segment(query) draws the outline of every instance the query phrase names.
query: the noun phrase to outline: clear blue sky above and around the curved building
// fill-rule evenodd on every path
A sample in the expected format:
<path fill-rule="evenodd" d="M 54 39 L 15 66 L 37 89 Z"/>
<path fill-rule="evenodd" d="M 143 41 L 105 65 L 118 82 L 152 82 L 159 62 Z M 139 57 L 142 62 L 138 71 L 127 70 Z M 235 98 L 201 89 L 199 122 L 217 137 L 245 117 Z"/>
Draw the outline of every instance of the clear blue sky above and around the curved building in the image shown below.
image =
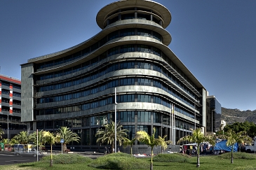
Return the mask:
<path fill-rule="evenodd" d="M 97 34 L 110 0 L 0 0 L 1 74 Z M 156 0 L 170 10 L 169 48 L 225 108 L 256 109 L 256 1 Z"/>

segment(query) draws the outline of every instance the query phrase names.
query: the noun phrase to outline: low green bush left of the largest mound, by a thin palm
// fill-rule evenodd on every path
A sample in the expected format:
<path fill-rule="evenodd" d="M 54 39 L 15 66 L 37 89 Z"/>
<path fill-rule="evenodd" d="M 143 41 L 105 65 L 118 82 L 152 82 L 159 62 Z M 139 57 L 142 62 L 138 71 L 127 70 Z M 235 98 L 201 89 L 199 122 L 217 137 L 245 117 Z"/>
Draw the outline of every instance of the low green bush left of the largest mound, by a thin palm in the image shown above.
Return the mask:
<path fill-rule="evenodd" d="M 42 157 L 41 161 L 50 162 L 50 155 Z M 90 157 L 83 157 L 78 154 L 59 154 L 53 155 L 53 164 L 77 164 L 83 162 L 91 162 Z"/>

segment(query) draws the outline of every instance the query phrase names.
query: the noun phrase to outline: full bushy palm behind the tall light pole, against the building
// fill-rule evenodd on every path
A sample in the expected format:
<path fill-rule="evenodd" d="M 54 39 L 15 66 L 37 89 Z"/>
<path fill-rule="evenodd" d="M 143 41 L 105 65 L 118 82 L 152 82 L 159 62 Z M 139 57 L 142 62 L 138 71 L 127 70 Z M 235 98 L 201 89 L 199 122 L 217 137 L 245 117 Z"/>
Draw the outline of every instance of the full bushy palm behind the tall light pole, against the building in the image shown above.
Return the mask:
<path fill-rule="evenodd" d="M 114 148 L 114 141 L 115 141 L 115 129 L 114 129 L 114 123 L 111 122 L 109 124 L 103 125 L 105 129 L 99 129 L 95 136 L 98 136 L 98 139 L 96 142 L 102 142 L 107 144 L 110 144 L 112 147 L 112 153 Z M 122 145 L 123 139 L 127 136 L 127 129 L 122 129 L 122 125 L 119 125 L 119 123 L 116 125 L 116 141 L 119 141 L 119 145 Z"/>

